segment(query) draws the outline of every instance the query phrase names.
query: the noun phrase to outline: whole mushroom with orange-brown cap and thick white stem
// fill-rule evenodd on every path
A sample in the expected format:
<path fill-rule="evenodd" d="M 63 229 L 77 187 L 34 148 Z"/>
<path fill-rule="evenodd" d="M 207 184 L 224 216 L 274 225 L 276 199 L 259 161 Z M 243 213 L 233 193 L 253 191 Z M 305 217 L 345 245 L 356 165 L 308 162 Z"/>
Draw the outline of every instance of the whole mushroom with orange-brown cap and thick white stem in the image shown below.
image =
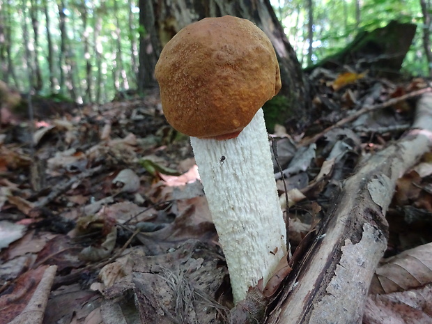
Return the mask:
<path fill-rule="evenodd" d="M 205 18 L 165 45 L 155 76 L 167 121 L 190 135 L 238 302 L 287 253 L 261 109 L 281 88 L 275 49 L 249 20 Z"/>

